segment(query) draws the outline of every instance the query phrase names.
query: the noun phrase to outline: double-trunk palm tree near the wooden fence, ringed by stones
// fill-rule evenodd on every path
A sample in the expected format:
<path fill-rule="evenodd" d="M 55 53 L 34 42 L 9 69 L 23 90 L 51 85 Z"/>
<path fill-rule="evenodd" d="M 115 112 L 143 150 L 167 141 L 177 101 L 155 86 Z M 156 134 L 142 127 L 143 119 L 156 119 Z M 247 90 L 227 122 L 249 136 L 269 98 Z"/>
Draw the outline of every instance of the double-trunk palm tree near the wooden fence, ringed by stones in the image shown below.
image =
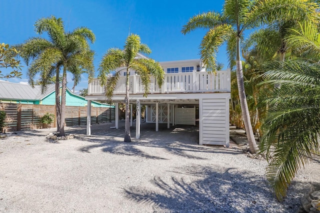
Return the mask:
<path fill-rule="evenodd" d="M 79 27 L 72 32 L 65 32 L 61 18 L 54 16 L 41 18 L 35 22 L 35 31 L 39 34 L 47 32 L 49 39 L 41 37 L 29 38 L 17 48 L 20 56 L 28 65 L 27 75 L 29 84 L 34 85 L 34 78 L 40 73 L 42 92 L 55 75 L 55 101 L 57 115 L 57 132 L 64 135 L 66 71 L 73 75 L 74 83 L 81 79 L 81 73 L 87 72 L 89 78 L 93 76 L 93 51 L 87 40 L 94 42 L 93 32 L 86 27 Z M 61 103 L 59 98 L 59 70 L 62 71 Z"/>

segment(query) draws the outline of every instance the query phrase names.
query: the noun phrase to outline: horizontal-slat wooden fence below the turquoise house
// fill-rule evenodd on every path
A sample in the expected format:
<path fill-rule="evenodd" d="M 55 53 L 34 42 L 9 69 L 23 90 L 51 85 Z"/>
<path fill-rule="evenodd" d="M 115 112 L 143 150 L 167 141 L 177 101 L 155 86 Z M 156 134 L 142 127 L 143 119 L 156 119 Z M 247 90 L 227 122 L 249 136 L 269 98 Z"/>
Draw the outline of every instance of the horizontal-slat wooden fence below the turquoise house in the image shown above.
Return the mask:
<path fill-rule="evenodd" d="M 4 127 L 6 131 L 18 131 L 42 128 L 40 119 L 46 112 L 54 114 L 54 122 L 51 127 L 56 126 L 55 105 L 34 105 L 21 103 L 0 103 L 0 110 L 6 112 Z M 66 106 L 65 124 L 85 125 L 86 106 Z M 110 122 L 115 120 L 114 108 L 91 107 L 91 123 Z"/>

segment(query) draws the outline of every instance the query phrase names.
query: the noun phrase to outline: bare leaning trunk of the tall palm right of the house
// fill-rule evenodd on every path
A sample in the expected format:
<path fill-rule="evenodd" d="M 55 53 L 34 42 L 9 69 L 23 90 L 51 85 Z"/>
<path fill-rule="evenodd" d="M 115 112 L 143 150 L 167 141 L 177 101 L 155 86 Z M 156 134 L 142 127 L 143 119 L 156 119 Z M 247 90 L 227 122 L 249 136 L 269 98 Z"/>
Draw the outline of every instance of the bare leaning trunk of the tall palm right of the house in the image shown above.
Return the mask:
<path fill-rule="evenodd" d="M 242 119 L 243 119 L 246 136 L 249 143 L 249 151 L 251 153 L 255 153 L 258 150 L 258 147 L 254 139 L 248 104 L 246 102 L 246 96 L 244 92 L 242 61 L 240 60 L 240 37 L 239 36 L 236 37 L 236 80 L 237 80 L 238 91 L 239 91 Z"/>

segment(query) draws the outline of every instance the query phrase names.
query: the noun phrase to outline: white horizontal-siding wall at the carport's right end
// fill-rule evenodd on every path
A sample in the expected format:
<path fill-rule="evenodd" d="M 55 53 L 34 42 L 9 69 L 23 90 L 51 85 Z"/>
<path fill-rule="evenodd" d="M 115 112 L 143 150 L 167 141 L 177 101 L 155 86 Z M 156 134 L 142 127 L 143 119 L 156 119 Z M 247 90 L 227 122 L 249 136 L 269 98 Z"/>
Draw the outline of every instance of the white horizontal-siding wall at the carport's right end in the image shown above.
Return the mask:
<path fill-rule="evenodd" d="M 201 99 L 200 144 L 229 145 L 228 99 Z"/>

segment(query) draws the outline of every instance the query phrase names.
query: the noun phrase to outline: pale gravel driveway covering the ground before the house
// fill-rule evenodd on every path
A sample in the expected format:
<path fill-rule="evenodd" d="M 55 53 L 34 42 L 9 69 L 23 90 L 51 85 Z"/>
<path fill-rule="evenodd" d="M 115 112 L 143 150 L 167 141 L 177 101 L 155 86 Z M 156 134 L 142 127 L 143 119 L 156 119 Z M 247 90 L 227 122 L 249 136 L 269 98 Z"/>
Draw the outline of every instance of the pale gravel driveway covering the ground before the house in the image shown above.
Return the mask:
<path fill-rule="evenodd" d="M 123 124 L 93 125 L 91 136 L 66 127 L 69 140 L 46 139 L 54 129 L 0 139 L 0 212 L 295 212 L 309 182 L 320 182 L 311 162 L 279 203 L 264 159 L 197 145 L 198 131 L 185 126 L 143 124 L 141 139 L 124 143 Z"/>

